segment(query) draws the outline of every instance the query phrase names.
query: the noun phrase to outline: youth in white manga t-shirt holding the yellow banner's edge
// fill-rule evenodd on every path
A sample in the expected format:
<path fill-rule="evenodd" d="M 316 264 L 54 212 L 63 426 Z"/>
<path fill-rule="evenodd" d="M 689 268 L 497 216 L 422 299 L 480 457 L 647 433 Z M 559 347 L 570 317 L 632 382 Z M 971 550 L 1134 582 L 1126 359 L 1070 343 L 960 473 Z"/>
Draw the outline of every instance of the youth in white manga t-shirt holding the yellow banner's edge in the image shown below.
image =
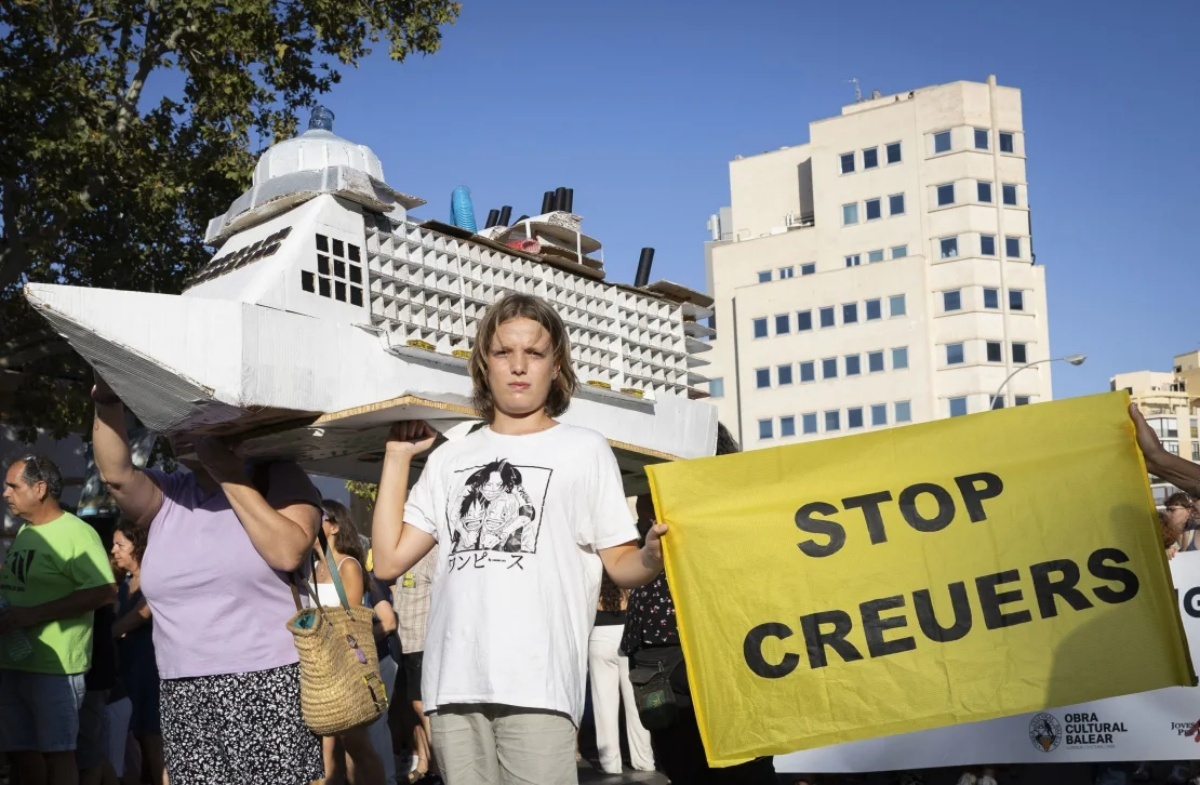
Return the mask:
<path fill-rule="evenodd" d="M 434 432 L 419 421 L 391 431 L 376 571 L 396 577 L 442 546 L 421 697 L 446 783 L 576 783 L 600 574 L 630 588 L 653 580 L 666 527 L 640 549 L 608 442 L 556 419 L 577 382 L 548 304 L 526 294 L 494 302 L 468 368 L 487 427 L 434 450 L 412 493 L 412 461 Z"/>

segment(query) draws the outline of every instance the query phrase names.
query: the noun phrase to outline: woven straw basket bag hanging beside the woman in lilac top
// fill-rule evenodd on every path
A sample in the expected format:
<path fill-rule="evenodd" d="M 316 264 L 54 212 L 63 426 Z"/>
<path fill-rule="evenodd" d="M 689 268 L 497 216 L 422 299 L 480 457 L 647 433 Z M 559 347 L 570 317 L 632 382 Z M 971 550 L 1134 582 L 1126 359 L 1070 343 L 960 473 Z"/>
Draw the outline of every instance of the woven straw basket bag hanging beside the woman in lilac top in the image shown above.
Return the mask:
<path fill-rule="evenodd" d="M 288 631 L 300 654 L 300 709 L 305 724 L 318 736 L 336 736 L 373 723 L 388 711 L 386 690 L 379 678 L 379 658 L 371 629 L 374 612 L 352 606 L 332 552 L 316 549 L 337 588 L 341 607 L 301 607 L 293 592 L 296 615 Z"/>

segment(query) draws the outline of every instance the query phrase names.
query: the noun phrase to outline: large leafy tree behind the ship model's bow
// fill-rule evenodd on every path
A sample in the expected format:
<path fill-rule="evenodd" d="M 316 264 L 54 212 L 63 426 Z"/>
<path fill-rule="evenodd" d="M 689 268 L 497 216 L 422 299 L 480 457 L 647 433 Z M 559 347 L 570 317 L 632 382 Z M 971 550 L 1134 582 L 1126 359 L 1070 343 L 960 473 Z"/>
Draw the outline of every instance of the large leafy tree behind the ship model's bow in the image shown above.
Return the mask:
<path fill-rule="evenodd" d="M 208 220 L 338 66 L 380 40 L 397 61 L 431 54 L 458 11 L 452 0 L 0 4 L 5 419 L 61 435 L 88 408 L 86 368 L 24 306 L 26 281 L 178 293 L 209 256 Z M 151 100 L 151 80 L 170 89 Z"/>

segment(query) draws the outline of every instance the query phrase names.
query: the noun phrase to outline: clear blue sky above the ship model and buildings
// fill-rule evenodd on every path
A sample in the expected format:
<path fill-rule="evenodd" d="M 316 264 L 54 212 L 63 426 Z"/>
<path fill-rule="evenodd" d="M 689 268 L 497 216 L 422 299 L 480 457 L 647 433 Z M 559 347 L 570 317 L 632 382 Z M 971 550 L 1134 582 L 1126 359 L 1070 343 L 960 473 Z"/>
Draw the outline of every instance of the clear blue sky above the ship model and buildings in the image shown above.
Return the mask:
<path fill-rule="evenodd" d="M 728 161 L 808 140 L 864 92 L 995 73 L 1024 92 L 1030 203 L 1046 268 L 1057 397 L 1200 348 L 1200 2 L 464 0 L 436 55 L 366 60 L 324 102 L 394 187 L 445 220 L 575 188 L 612 280 L 638 248 L 704 287 L 704 222 Z M 1192 253 L 1193 256 L 1189 256 Z"/>

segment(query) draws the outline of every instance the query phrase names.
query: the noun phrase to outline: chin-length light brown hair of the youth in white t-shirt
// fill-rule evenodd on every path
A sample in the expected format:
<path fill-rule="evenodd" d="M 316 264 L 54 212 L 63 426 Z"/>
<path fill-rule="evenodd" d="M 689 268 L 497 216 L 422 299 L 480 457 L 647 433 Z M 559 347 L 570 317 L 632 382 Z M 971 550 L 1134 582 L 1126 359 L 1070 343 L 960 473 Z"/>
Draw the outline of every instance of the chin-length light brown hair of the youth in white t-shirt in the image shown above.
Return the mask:
<path fill-rule="evenodd" d="M 536 322 L 550 334 L 551 356 L 558 366 L 558 374 L 551 383 L 550 395 L 546 397 L 546 414 L 558 417 L 565 412 L 578 388 L 578 378 L 571 367 L 571 338 L 558 312 L 548 302 L 532 294 L 508 294 L 493 302 L 479 322 L 475 343 L 470 347 L 470 359 L 467 360 L 467 370 L 470 372 L 474 386 L 474 405 L 487 423 L 496 418 L 496 399 L 487 385 L 487 353 L 496 338 L 497 329 L 505 322 L 522 318 Z"/>

